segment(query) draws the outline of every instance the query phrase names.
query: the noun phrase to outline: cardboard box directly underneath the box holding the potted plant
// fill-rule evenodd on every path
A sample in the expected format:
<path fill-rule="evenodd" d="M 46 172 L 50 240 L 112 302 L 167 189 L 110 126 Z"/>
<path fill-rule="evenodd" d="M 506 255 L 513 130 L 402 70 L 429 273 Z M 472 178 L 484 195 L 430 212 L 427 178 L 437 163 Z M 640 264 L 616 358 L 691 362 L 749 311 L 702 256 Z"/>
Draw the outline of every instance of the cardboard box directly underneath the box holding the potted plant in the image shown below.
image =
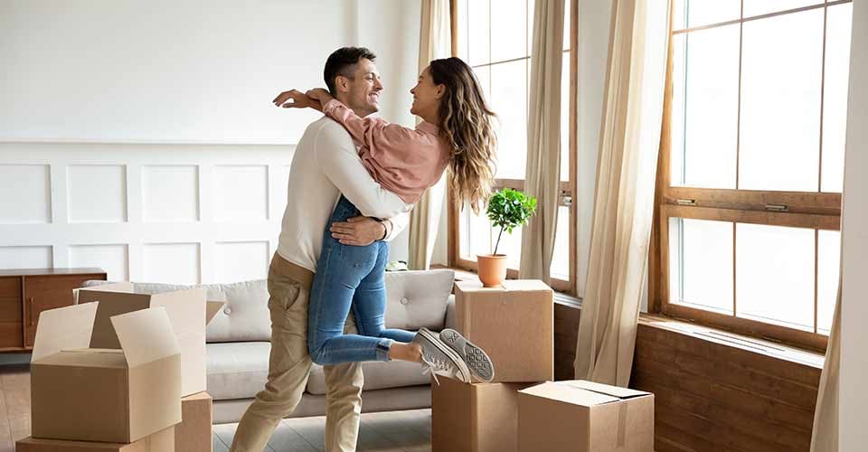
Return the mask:
<path fill-rule="evenodd" d="M 518 391 L 533 383 L 431 381 L 432 452 L 515 452 Z"/>

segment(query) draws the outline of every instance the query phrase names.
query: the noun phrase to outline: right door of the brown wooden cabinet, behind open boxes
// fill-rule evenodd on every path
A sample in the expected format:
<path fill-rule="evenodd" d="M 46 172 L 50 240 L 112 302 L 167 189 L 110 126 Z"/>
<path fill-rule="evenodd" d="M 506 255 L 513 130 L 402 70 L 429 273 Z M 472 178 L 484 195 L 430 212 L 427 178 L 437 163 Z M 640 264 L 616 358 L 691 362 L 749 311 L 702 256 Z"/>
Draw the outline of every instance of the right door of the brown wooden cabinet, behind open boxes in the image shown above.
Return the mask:
<path fill-rule="evenodd" d="M 104 275 L 45 275 L 24 277 L 24 346 L 33 347 L 42 311 L 72 306 L 72 289 Z"/>

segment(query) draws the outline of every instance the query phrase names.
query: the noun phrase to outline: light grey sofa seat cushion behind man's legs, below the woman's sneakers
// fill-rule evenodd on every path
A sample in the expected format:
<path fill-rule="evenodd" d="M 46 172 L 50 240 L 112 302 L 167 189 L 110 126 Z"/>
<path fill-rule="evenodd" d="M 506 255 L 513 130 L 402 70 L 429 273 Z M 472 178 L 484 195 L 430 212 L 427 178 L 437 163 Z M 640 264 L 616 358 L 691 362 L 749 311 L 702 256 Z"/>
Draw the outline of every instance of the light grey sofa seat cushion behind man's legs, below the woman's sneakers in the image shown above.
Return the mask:
<path fill-rule="evenodd" d="M 404 386 L 429 384 L 431 376 L 422 372 L 422 366 L 418 363 L 406 361 L 366 361 L 362 363 L 364 374 L 363 391 L 373 391 Z M 307 392 L 316 395 L 325 394 L 325 372 L 323 366 L 314 364 L 307 379 Z M 209 390 L 210 392 L 210 390 Z"/>

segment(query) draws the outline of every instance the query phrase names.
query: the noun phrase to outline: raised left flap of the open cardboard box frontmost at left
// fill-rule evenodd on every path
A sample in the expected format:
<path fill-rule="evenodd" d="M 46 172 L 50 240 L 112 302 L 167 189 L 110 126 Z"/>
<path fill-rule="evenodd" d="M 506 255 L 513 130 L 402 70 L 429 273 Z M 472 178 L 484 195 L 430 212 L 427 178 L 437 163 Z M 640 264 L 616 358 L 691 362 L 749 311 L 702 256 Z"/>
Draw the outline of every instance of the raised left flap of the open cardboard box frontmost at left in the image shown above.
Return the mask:
<path fill-rule="evenodd" d="M 90 344 L 97 303 L 59 307 L 42 311 L 31 363 L 67 348 L 86 348 Z"/>

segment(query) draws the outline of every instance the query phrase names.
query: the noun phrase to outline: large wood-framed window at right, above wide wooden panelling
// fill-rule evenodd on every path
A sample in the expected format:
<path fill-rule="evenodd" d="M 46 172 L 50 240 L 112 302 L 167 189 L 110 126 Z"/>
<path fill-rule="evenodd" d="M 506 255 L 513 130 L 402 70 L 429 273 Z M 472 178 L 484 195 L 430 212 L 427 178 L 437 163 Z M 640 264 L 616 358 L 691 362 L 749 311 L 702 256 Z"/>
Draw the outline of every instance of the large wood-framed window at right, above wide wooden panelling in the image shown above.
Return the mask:
<path fill-rule="evenodd" d="M 852 4 L 673 5 L 652 307 L 822 350 L 838 286 Z"/>

